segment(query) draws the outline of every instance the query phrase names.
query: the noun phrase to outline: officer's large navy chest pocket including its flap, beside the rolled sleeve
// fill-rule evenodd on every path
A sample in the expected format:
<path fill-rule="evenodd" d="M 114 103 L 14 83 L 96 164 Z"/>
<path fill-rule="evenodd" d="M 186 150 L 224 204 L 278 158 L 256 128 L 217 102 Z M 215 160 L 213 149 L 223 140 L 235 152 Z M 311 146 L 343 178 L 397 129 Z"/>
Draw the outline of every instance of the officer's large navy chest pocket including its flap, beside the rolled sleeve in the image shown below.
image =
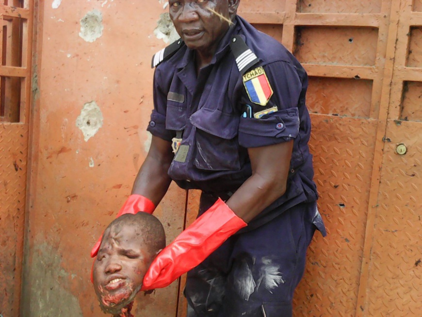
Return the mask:
<path fill-rule="evenodd" d="M 240 170 L 239 120 L 237 116 L 207 108 L 190 117 L 195 127 L 195 167 L 210 171 Z"/>

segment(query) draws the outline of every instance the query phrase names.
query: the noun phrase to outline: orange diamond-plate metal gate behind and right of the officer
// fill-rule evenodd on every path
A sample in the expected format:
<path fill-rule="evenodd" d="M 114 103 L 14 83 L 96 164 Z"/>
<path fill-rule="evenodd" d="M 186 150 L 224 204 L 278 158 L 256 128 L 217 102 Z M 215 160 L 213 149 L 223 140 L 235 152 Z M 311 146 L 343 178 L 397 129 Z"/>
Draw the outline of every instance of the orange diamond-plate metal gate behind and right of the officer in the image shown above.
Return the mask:
<path fill-rule="evenodd" d="M 310 147 L 329 234 L 309 248 L 294 315 L 422 316 L 422 1 L 241 6 L 310 77 Z M 197 204 L 190 193 L 188 219 Z M 180 296 L 179 316 L 184 306 Z"/>

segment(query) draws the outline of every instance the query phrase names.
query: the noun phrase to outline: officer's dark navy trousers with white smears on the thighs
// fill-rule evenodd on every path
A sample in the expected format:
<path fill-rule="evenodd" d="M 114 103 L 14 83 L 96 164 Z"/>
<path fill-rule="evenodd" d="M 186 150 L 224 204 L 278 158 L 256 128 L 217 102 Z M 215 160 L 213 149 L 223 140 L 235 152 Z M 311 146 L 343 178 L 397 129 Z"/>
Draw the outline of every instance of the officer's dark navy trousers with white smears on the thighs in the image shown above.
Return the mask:
<path fill-rule="evenodd" d="M 215 197 L 202 195 L 201 209 Z M 291 317 L 315 232 L 316 202 L 298 204 L 266 224 L 231 236 L 187 273 L 187 317 Z"/>

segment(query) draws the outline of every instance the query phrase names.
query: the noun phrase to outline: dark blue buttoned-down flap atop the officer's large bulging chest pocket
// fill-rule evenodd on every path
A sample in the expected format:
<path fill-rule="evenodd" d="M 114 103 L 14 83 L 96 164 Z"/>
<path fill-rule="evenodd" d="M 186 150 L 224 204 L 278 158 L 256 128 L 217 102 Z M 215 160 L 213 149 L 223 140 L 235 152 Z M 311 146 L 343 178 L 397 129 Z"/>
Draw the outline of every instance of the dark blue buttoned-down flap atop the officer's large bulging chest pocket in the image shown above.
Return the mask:
<path fill-rule="evenodd" d="M 238 134 L 239 119 L 240 117 L 223 113 L 220 110 L 207 108 L 199 109 L 190 117 L 191 123 L 196 128 L 227 140 Z"/>

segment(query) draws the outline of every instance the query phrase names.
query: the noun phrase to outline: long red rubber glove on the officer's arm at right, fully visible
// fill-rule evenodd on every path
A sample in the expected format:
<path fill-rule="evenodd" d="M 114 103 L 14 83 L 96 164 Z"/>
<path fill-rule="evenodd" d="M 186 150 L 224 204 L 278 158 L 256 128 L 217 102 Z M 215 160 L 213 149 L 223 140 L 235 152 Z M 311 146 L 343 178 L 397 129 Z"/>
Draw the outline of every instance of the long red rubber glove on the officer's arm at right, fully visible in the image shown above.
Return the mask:
<path fill-rule="evenodd" d="M 223 200 L 218 199 L 158 254 L 145 274 L 141 290 L 170 285 L 246 226 Z"/>

